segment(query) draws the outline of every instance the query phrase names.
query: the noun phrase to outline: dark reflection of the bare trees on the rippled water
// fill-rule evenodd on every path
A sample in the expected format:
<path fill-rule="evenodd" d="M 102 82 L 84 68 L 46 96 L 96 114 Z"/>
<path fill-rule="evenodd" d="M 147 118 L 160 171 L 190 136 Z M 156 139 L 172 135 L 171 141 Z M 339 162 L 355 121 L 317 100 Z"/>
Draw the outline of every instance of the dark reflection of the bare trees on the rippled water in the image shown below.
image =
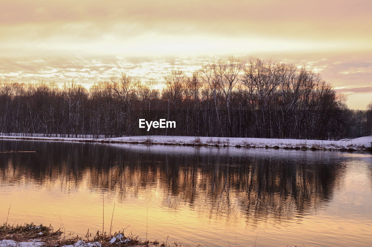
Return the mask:
<path fill-rule="evenodd" d="M 209 218 L 286 221 L 323 207 L 345 170 L 321 151 L 1 141 L 2 184 L 85 184 L 119 201 L 148 194 Z M 155 194 L 156 191 L 156 194 Z M 160 194 L 159 194 L 160 193 Z"/>

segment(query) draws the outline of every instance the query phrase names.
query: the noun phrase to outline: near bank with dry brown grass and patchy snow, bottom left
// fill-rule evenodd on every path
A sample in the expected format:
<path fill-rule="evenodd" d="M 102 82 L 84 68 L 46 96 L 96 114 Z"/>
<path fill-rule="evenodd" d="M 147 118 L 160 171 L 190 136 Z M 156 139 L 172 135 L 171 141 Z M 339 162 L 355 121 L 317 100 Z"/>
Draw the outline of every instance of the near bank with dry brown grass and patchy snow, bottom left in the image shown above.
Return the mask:
<path fill-rule="evenodd" d="M 93 235 L 93 237 L 92 237 Z M 51 225 L 24 224 L 0 226 L 0 247 L 112 247 L 112 246 L 136 246 L 136 247 L 155 247 L 155 246 L 179 246 L 174 243 L 159 243 L 157 240 L 142 241 L 138 236 L 132 234 L 125 236 L 124 231 L 114 234 L 102 234 L 97 232 L 86 236 L 65 236 L 61 229 L 55 231 Z"/>

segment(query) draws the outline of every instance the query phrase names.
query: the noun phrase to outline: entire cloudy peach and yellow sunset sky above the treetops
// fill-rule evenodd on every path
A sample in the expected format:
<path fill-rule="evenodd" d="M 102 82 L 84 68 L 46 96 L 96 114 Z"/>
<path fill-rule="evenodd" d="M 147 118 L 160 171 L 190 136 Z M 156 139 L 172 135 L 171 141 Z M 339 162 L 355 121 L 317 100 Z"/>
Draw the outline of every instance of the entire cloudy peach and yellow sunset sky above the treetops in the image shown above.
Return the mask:
<path fill-rule="evenodd" d="M 371 0 L 0 0 L 0 79 L 89 88 L 236 56 L 314 70 L 352 109 L 372 100 Z"/>

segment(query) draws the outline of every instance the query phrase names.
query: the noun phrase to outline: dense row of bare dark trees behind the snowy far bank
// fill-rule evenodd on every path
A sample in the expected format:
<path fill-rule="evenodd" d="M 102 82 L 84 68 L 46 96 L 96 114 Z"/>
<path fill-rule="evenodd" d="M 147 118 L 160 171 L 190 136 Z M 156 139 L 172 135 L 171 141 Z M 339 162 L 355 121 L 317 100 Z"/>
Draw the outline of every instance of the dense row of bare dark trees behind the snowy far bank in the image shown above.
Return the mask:
<path fill-rule="evenodd" d="M 160 85 L 160 86 L 159 86 Z M 341 139 L 372 134 L 372 103 L 351 110 L 321 76 L 291 63 L 236 57 L 163 81 L 126 73 L 89 89 L 71 80 L 0 82 L 0 132 L 77 137 L 124 135 Z M 139 119 L 176 128 L 138 128 Z"/>

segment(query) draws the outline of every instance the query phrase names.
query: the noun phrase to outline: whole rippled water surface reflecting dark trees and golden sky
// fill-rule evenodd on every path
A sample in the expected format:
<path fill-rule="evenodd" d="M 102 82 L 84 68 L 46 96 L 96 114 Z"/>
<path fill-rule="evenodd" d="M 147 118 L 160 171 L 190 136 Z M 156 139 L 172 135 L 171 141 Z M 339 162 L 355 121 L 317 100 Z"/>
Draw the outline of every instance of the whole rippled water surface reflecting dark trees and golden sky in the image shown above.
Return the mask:
<path fill-rule="evenodd" d="M 58 215 L 57 224 L 68 225 L 66 231 L 84 234 L 87 228 L 102 230 L 104 198 L 105 218 L 111 218 L 112 205 L 118 203 L 114 227 L 130 224 L 130 230 L 142 238 L 150 219 L 149 236 L 154 239 L 165 240 L 169 235 L 175 241 L 207 246 L 226 246 L 226 239 L 235 241 L 235 237 L 237 246 L 254 245 L 259 230 L 262 237 L 256 246 L 339 246 L 334 240 L 340 236 L 347 238 L 344 246 L 363 246 L 372 240 L 371 233 L 362 230 L 371 227 L 372 220 L 371 203 L 367 204 L 372 198 L 370 155 L 45 141 L 0 143 L 0 151 L 39 151 L 0 154 L 3 221 L 12 203 L 16 211 L 11 210 L 10 218 L 17 222 L 26 221 L 20 218 L 26 217 L 48 223 Z M 349 172 L 350 166 L 354 170 Z M 353 191 L 356 187 L 360 189 Z M 343 194 L 350 191 L 351 195 Z M 347 205 L 348 197 L 358 193 L 363 193 L 358 199 L 359 211 L 352 220 L 342 222 L 350 208 L 340 205 Z M 333 210 L 336 213 L 329 214 Z M 356 232 L 346 236 L 336 227 L 335 233 L 324 233 L 339 223 L 352 224 Z"/>

